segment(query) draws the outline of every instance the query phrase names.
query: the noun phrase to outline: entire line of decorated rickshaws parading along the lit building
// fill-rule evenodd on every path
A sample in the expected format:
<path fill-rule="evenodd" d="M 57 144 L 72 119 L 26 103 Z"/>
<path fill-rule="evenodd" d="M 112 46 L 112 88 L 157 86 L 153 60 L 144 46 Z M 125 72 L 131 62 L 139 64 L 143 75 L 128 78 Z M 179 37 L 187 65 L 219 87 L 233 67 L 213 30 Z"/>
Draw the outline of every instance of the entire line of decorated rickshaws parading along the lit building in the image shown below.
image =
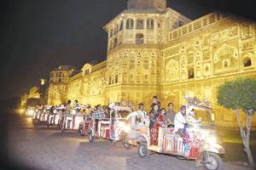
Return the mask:
<path fill-rule="evenodd" d="M 201 121 L 186 124 L 184 130 L 188 134 L 187 139 L 174 133 L 173 126 L 169 126 L 168 122 L 158 122 L 156 144 L 151 144 L 149 116 L 143 111 L 132 111 L 131 107 L 125 105 L 109 105 L 110 116 L 101 120 L 96 120 L 91 115 L 63 114 L 63 105 L 55 108 L 30 108 L 26 115 L 31 116 L 35 122 L 45 123 L 47 127 L 60 127 L 61 133 L 76 130 L 82 136 L 87 135 L 91 143 L 102 138 L 122 142 L 125 149 L 136 146 L 141 157 L 160 153 L 195 160 L 197 165 L 204 165 L 210 170 L 223 169 L 221 156 L 224 155 L 224 148 L 216 138 L 211 105 L 207 99 L 203 102 L 196 97 L 185 96 L 185 99 L 187 114 L 193 110 L 195 118 L 201 116 Z M 89 107 L 85 105 L 80 109 L 84 111 Z"/>

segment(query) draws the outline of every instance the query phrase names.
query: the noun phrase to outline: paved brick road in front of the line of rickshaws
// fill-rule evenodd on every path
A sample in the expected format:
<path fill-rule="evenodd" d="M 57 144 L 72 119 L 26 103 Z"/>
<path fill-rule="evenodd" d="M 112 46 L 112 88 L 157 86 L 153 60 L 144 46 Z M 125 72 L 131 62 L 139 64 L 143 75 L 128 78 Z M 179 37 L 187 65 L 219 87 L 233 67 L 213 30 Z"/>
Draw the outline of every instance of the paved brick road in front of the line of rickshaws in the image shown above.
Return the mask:
<path fill-rule="evenodd" d="M 143 159 L 136 149 L 125 150 L 121 144 L 113 146 L 107 140 L 90 144 L 86 137 L 34 126 L 32 119 L 15 114 L 9 116 L 8 136 L 8 165 L 13 169 L 196 169 L 194 161 L 159 154 Z M 250 168 L 224 163 L 224 169 Z"/>

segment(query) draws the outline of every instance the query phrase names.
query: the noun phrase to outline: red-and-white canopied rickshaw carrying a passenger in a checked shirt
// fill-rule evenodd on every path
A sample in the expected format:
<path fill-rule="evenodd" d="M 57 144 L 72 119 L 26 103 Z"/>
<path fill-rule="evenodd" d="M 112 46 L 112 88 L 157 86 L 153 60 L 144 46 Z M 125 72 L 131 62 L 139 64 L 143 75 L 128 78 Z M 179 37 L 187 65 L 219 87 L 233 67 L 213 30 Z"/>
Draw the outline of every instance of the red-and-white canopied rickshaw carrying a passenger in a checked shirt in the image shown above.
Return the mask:
<path fill-rule="evenodd" d="M 119 105 L 119 103 L 109 105 L 110 117 L 100 120 L 97 125 L 93 118 L 90 123 L 88 138 L 90 142 L 95 139 L 103 138 L 110 139 L 113 142 L 118 142 L 121 139 L 120 133 L 125 125 L 125 117 L 131 113 L 131 108 L 128 106 Z M 97 126 L 97 131 L 96 131 Z"/>

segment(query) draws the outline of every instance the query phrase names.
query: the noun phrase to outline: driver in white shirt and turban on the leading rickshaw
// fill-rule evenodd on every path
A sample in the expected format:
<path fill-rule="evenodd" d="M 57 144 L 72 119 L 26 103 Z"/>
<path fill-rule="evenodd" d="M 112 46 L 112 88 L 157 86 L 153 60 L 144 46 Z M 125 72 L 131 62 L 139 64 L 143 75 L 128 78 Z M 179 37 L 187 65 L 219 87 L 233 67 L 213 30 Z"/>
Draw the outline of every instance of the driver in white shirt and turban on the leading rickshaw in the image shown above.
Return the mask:
<path fill-rule="evenodd" d="M 183 130 L 187 123 L 186 118 L 186 106 L 182 105 L 180 111 L 174 117 L 174 132 L 177 133 L 179 130 Z"/>

